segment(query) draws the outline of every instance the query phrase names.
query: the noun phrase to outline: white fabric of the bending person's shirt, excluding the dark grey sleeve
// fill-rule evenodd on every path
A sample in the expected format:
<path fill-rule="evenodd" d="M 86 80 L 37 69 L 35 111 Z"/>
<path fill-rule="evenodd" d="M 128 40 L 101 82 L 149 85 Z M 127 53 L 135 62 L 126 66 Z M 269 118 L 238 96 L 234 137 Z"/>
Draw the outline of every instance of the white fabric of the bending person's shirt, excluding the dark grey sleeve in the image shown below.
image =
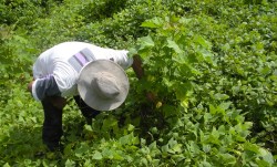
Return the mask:
<path fill-rule="evenodd" d="M 62 96 L 76 95 L 75 83 L 84 64 L 79 65 L 70 60 L 83 49 L 91 51 L 92 61 L 112 60 L 123 69 L 132 64 L 125 50 L 104 49 L 85 42 L 63 42 L 40 54 L 33 65 L 33 77 L 37 80 L 52 75 Z"/>

